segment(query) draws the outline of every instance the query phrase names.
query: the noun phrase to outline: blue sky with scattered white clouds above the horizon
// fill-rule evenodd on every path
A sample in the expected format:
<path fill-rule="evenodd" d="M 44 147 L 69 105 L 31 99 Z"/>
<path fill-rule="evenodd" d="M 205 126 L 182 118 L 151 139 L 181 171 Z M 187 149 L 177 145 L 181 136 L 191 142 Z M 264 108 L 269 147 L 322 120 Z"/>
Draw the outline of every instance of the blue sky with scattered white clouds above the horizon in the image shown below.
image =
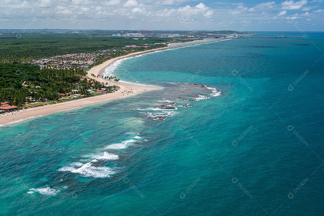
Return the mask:
<path fill-rule="evenodd" d="M 324 0 L 1 2 L 1 29 L 324 31 Z"/>

